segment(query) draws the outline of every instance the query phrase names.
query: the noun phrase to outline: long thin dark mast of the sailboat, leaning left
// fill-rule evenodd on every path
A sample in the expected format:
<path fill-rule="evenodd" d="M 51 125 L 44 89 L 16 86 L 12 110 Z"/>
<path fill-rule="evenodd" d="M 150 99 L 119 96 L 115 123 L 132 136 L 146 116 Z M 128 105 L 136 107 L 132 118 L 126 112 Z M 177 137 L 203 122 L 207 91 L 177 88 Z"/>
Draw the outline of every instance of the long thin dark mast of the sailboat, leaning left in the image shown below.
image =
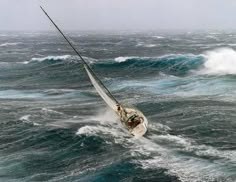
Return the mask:
<path fill-rule="evenodd" d="M 55 28 L 60 32 L 60 34 L 63 36 L 63 38 L 66 40 L 66 42 L 70 45 L 70 47 L 74 50 L 74 52 L 79 56 L 81 61 L 83 62 L 83 65 L 92 73 L 92 75 L 99 81 L 99 83 L 103 86 L 103 88 L 107 91 L 110 97 L 116 102 L 117 105 L 120 105 L 120 103 L 116 100 L 116 98 L 111 94 L 111 92 L 107 89 L 107 87 L 103 84 L 103 82 L 97 77 L 95 72 L 90 68 L 88 63 L 84 60 L 84 58 L 81 56 L 79 51 L 75 49 L 73 44 L 68 40 L 68 38 L 65 36 L 65 34 L 61 31 L 61 29 L 56 25 L 56 23 L 51 19 L 51 17 L 47 14 L 47 12 L 43 9 L 42 6 L 40 6 L 41 10 L 44 12 L 44 14 L 48 17 L 48 19 L 51 21 L 51 23 L 55 26 Z"/>

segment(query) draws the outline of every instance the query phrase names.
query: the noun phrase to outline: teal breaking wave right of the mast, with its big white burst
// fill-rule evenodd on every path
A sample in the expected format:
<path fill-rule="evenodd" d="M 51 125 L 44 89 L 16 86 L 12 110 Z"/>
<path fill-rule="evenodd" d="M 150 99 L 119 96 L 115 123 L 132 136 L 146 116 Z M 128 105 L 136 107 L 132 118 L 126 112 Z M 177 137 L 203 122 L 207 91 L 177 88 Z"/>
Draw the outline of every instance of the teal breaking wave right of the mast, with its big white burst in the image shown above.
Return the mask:
<path fill-rule="evenodd" d="M 117 57 L 120 66 L 132 68 L 155 68 L 165 74 L 175 76 L 188 73 L 227 75 L 236 74 L 236 51 L 232 48 L 220 48 L 203 54 L 170 54 L 161 57 Z M 118 66 L 118 65 L 115 65 Z"/>

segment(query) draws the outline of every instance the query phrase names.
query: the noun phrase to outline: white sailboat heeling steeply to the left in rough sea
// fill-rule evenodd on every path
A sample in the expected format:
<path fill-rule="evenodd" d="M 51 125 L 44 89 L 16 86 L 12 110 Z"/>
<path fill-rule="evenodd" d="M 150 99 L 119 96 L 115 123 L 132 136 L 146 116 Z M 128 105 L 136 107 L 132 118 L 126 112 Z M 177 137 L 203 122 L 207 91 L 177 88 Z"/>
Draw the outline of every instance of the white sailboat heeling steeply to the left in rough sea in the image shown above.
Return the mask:
<path fill-rule="evenodd" d="M 51 19 L 51 17 L 47 14 L 47 12 L 40 6 L 41 10 L 48 17 L 51 23 L 55 26 L 55 28 L 60 32 L 60 34 L 64 37 L 67 43 L 71 46 L 74 52 L 78 55 L 80 60 L 83 62 L 84 69 L 96 89 L 97 93 L 102 97 L 102 99 L 106 102 L 106 104 L 118 115 L 122 125 L 128 130 L 128 132 L 135 137 L 141 137 L 147 132 L 148 120 L 144 116 L 144 114 L 138 109 L 131 107 L 124 107 L 120 104 L 116 98 L 111 94 L 111 92 L 107 89 L 107 87 L 103 84 L 103 82 L 98 78 L 98 76 L 94 73 L 94 71 L 90 68 L 87 62 L 83 59 L 81 54 L 75 49 L 73 44 L 67 39 L 65 34 L 61 31 L 61 29 L 55 24 L 55 22 Z"/>

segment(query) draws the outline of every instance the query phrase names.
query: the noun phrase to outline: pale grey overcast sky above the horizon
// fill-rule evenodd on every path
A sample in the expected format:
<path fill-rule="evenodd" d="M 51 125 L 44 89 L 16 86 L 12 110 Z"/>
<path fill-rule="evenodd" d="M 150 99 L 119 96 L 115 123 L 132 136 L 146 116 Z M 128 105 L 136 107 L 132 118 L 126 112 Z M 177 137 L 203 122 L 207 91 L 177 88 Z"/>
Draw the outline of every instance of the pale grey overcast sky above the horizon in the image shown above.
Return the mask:
<path fill-rule="evenodd" d="M 236 30 L 236 0 L 0 0 L 1 30 Z"/>

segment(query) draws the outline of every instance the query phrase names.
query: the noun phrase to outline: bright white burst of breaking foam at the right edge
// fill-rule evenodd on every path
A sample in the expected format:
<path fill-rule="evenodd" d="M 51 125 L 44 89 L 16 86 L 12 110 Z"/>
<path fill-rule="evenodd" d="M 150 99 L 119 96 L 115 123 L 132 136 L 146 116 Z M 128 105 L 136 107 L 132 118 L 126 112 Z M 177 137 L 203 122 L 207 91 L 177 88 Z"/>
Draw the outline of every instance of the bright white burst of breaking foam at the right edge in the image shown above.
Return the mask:
<path fill-rule="evenodd" d="M 231 48 L 221 48 L 205 53 L 204 68 L 201 74 L 236 74 L 236 51 Z"/>

